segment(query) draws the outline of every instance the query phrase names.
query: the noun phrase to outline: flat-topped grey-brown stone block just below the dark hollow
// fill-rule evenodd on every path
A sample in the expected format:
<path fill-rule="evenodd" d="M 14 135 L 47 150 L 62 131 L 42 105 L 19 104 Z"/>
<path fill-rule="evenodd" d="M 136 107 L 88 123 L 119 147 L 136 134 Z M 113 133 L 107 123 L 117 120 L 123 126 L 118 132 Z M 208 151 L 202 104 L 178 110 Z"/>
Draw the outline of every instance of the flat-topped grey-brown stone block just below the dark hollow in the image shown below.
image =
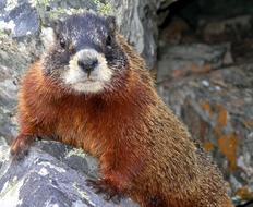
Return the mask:
<path fill-rule="evenodd" d="M 160 48 L 158 82 L 194 73 L 206 73 L 231 64 L 230 45 L 166 45 Z"/>

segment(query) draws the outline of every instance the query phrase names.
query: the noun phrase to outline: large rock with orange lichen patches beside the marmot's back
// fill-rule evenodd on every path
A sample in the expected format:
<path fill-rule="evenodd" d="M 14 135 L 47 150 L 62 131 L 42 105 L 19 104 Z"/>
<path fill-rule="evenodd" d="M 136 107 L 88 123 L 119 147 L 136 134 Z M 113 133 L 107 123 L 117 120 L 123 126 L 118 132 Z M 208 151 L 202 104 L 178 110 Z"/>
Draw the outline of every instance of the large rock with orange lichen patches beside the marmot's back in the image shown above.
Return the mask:
<path fill-rule="evenodd" d="M 253 199 L 253 64 L 183 76 L 158 85 L 229 181 L 236 199 Z"/>

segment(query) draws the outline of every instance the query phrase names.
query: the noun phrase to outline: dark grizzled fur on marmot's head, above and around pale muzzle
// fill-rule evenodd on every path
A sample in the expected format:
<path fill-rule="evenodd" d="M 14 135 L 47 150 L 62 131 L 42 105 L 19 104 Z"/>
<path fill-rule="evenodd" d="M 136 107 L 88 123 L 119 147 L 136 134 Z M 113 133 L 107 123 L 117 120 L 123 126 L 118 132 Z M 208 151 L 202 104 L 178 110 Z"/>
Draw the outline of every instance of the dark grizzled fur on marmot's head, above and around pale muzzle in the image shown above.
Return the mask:
<path fill-rule="evenodd" d="M 103 53 L 112 71 L 123 70 L 128 58 L 117 41 L 117 24 L 113 16 L 94 13 L 72 15 L 52 24 L 53 41 L 46 51 L 45 74 L 58 77 L 67 70 L 71 58 L 83 49 Z"/>

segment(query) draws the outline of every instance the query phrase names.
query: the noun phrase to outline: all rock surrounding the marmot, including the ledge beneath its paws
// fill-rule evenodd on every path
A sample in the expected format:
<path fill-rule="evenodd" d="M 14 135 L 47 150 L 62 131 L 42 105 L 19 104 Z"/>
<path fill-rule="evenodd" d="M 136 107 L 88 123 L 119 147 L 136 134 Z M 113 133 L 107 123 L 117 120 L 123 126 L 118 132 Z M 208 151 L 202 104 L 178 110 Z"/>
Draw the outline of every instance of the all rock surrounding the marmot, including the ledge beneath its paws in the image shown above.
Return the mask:
<path fill-rule="evenodd" d="M 92 10 L 113 14 L 121 33 L 157 76 L 157 90 L 214 158 L 234 204 L 253 200 L 253 2 L 249 0 L 1 0 L 0 206 L 119 206 L 86 186 L 94 158 L 38 142 L 21 162 L 9 157 L 17 134 L 21 74 L 43 52 L 52 20 Z M 137 206 L 130 199 L 121 206 Z"/>

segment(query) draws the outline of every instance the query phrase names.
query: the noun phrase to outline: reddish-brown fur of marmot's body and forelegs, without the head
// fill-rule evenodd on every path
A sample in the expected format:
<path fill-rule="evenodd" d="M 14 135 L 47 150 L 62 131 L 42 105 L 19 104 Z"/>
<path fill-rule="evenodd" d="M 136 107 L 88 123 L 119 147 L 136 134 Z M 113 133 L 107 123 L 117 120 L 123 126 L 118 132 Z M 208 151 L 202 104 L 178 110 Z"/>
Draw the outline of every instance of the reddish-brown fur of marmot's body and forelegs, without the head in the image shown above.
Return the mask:
<path fill-rule="evenodd" d="M 118 36 L 129 62 L 123 86 L 98 95 L 68 94 L 43 73 L 23 77 L 19 154 L 33 136 L 58 136 L 100 161 L 103 179 L 144 207 L 229 207 L 225 182 L 184 125 L 157 95 L 144 61 Z"/>

